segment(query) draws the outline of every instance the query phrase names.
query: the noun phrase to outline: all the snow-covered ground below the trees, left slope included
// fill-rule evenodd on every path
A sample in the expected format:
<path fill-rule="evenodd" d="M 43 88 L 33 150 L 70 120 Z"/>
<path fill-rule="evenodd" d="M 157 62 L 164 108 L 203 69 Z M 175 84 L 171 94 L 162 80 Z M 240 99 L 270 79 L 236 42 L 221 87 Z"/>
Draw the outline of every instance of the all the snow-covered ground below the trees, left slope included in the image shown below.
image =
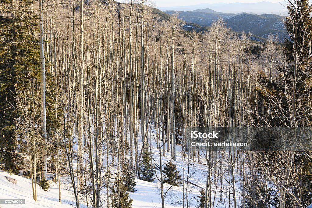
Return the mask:
<path fill-rule="evenodd" d="M 140 128 L 139 128 L 140 129 Z M 153 153 L 153 163 L 159 164 L 159 151 L 156 147 L 156 142 L 154 138 L 156 137 L 156 131 L 154 126 L 151 125 L 151 129 L 149 130 L 149 138 L 152 143 L 152 153 Z M 139 132 L 139 150 L 142 147 L 141 143 L 141 135 Z M 167 144 L 166 148 L 167 148 Z M 164 192 L 166 192 L 165 196 L 165 207 L 168 208 L 182 208 L 183 198 L 184 198 L 184 207 L 188 204 L 188 207 L 194 208 L 197 206 L 197 201 L 194 200 L 194 196 L 198 195 L 201 188 L 205 189 L 206 187 L 206 179 L 207 179 L 207 166 L 204 155 L 200 156 L 201 161 L 198 164 L 197 157 L 195 161 L 188 159 L 188 156 L 185 157 L 184 161 L 182 160 L 182 152 L 181 146 L 177 146 L 176 148 L 176 161 L 173 163 L 177 166 L 177 170 L 180 172 L 181 177 L 183 178 L 183 167 L 184 167 L 184 180 L 189 181 L 188 185 L 183 184 L 180 186 L 170 186 L 168 184 L 164 184 Z M 162 157 L 163 164 L 170 160 L 170 152 L 166 151 L 166 156 Z M 220 171 L 220 166 L 218 166 L 218 174 L 220 174 L 223 178 L 223 189 L 222 189 L 222 201 L 220 201 L 220 177 L 214 178 L 214 174 L 212 176 L 212 204 L 214 207 L 223 208 L 223 207 L 232 207 L 233 199 L 232 199 L 232 187 L 230 185 L 231 178 L 228 175 L 226 156 L 222 159 L 222 172 Z M 74 164 L 74 167 L 76 164 Z M 156 171 L 156 175 L 160 177 L 160 172 Z M 11 177 L 17 180 L 16 184 L 9 182 L 5 176 Z M 235 183 L 236 186 L 236 201 L 238 204 L 241 201 L 240 195 L 240 176 L 239 174 L 235 174 Z M 160 196 L 160 182 L 155 177 L 153 183 L 142 181 L 136 179 L 136 186 L 134 193 L 129 193 L 130 198 L 133 199 L 132 207 L 133 208 L 159 208 L 161 207 L 161 196 Z M 0 208 L 10 208 L 10 207 L 74 207 L 75 206 L 75 198 L 73 192 L 71 191 L 71 183 L 69 181 L 68 176 L 61 177 L 61 204 L 58 202 L 58 184 L 55 182 L 50 182 L 49 191 L 44 191 L 37 185 L 37 202 L 35 202 L 32 198 L 32 184 L 31 180 L 25 178 L 23 176 L 10 175 L 7 172 L 0 171 L 0 199 L 25 199 L 24 205 L 0 205 Z M 186 190 L 187 188 L 187 190 Z M 105 198 L 105 192 L 102 192 L 103 197 Z M 183 197 L 184 195 L 184 197 Z M 86 201 L 82 201 L 81 208 L 87 207 Z M 105 206 L 104 206 L 105 207 Z"/>

